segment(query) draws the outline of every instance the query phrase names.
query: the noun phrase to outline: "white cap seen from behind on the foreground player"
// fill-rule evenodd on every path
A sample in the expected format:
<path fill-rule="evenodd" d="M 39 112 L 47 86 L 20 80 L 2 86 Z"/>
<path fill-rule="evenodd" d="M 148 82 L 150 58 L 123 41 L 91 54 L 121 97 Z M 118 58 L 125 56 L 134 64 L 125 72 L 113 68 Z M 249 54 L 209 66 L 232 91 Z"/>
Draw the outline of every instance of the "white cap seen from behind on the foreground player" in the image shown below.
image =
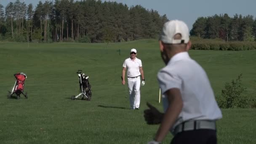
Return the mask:
<path fill-rule="evenodd" d="M 181 34 L 180 40 L 174 40 L 176 34 Z M 167 44 L 180 44 L 189 42 L 189 28 L 183 21 L 172 20 L 167 21 L 160 35 L 160 40 Z"/>

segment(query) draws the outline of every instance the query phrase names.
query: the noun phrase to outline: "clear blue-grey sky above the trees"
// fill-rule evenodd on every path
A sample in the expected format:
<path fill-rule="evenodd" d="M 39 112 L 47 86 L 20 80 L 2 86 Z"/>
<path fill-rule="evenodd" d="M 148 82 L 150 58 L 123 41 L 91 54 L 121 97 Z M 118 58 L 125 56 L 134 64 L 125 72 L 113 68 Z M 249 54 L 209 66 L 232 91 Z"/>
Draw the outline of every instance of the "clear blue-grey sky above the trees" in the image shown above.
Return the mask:
<path fill-rule="evenodd" d="M 15 0 L 0 0 L 3 6 Z M 23 1 L 23 0 L 21 0 Z M 24 0 L 35 7 L 39 0 Z M 44 2 L 45 0 L 41 0 Z M 104 1 L 104 0 L 101 0 Z M 192 28 L 195 20 L 200 16 L 213 16 L 214 14 L 227 13 L 233 17 L 235 13 L 253 15 L 256 17 L 256 0 L 107 0 L 131 5 L 141 5 L 147 9 L 154 9 L 160 15 L 166 14 L 168 19 L 185 21 Z"/>

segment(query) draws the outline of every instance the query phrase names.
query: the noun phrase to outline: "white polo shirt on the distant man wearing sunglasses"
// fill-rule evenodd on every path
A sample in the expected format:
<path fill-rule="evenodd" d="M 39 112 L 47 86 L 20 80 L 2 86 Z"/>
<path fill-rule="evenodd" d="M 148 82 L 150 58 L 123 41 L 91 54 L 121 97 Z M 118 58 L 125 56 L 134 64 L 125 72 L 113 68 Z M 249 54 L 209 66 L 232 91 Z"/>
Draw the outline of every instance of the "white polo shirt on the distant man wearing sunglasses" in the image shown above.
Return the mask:
<path fill-rule="evenodd" d="M 131 58 L 125 59 L 123 62 L 123 67 L 127 68 L 127 76 L 128 77 L 137 77 L 141 75 L 139 72 L 139 67 L 142 67 L 141 60 L 135 58 L 135 60 L 131 60 Z"/>

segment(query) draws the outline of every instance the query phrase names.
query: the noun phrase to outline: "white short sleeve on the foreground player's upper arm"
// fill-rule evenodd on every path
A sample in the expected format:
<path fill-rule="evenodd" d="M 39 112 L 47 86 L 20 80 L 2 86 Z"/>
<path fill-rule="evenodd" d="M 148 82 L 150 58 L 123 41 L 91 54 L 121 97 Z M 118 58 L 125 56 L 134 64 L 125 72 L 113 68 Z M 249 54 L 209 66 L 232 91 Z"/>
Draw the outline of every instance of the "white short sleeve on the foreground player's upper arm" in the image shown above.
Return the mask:
<path fill-rule="evenodd" d="M 181 78 L 178 77 L 178 75 L 175 75 L 171 72 L 160 70 L 157 74 L 157 79 L 159 86 L 161 88 L 162 94 L 164 94 L 166 91 L 168 91 L 171 88 L 179 88 L 181 89 Z"/>

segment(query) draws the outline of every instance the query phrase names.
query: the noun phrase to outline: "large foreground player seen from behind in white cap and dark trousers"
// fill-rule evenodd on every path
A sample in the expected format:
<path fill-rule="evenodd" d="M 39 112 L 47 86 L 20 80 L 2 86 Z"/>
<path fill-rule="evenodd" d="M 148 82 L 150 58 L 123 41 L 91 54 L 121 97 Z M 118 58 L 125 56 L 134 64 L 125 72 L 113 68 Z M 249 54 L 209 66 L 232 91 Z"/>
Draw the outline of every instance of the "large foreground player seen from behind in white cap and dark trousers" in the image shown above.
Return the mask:
<path fill-rule="evenodd" d="M 166 22 L 159 43 L 166 64 L 157 75 L 164 95 L 164 113 L 147 103 L 146 122 L 160 124 L 148 144 L 160 144 L 168 131 L 174 135 L 171 144 L 216 144 L 216 120 L 222 114 L 208 76 L 187 52 L 191 46 L 187 24 Z"/>

